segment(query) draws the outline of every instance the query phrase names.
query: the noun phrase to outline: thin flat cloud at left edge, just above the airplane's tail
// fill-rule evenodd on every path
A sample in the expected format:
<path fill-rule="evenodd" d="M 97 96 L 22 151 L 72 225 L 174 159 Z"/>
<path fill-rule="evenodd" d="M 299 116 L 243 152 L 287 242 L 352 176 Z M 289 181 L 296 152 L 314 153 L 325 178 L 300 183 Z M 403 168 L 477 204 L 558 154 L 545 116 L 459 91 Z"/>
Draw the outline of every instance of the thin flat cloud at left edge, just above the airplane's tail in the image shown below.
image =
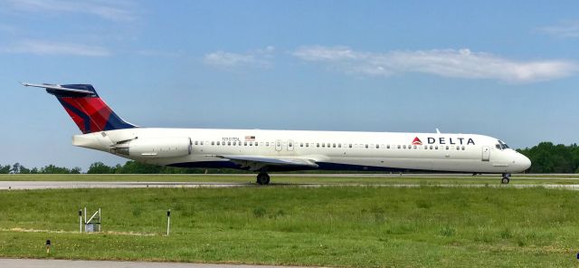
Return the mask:
<path fill-rule="evenodd" d="M 0 48 L 3 53 L 32 53 L 38 55 L 73 55 L 88 57 L 109 56 L 109 50 L 100 46 L 79 43 L 51 43 L 40 40 L 26 40 Z"/>

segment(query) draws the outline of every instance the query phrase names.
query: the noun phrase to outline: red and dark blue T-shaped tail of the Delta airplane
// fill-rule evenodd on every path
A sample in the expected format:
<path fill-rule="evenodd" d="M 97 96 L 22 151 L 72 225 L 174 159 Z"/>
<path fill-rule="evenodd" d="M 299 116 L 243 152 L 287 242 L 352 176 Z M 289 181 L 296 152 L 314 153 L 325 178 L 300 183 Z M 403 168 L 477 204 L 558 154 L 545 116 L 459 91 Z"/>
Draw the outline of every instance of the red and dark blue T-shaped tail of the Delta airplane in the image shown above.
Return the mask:
<path fill-rule="evenodd" d="M 132 129 L 137 126 L 122 120 L 109 105 L 102 101 L 90 84 L 31 84 L 26 87 L 44 88 L 61 102 L 64 110 L 81 129 L 82 134 L 114 129 Z"/>

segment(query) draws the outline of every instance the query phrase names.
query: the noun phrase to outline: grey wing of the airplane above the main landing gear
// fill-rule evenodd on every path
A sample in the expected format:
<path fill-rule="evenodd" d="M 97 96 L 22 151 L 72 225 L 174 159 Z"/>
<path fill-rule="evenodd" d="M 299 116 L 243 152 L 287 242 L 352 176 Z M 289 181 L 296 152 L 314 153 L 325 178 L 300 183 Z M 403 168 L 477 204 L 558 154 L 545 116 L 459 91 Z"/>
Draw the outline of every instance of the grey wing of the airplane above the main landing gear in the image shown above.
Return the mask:
<path fill-rule="evenodd" d="M 233 163 L 242 167 L 248 167 L 251 170 L 259 170 L 268 166 L 277 167 L 308 167 L 318 168 L 316 161 L 308 158 L 274 158 L 261 156 L 212 156 L 216 158 L 223 158 L 232 161 Z"/>

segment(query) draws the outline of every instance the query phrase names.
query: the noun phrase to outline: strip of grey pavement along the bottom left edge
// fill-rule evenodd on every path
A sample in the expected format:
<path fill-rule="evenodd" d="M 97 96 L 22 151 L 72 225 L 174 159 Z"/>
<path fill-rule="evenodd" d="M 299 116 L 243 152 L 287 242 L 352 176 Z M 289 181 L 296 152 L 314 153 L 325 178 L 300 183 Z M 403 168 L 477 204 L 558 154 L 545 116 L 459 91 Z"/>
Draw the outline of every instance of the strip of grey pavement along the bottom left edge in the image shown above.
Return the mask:
<path fill-rule="evenodd" d="M 0 267 L 18 268 L 298 268 L 297 266 L 269 265 L 236 265 L 204 263 L 152 263 L 152 262 L 111 262 L 111 261 L 67 261 L 67 260 L 33 260 L 33 259 L 0 259 Z"/>

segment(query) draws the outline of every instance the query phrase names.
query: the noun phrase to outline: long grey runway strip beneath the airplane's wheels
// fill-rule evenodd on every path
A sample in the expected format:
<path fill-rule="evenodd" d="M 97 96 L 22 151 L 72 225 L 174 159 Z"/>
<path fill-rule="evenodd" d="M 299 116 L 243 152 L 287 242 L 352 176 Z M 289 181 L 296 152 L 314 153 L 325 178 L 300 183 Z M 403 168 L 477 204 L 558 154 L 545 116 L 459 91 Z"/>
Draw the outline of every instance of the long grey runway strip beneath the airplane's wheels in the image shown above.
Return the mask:
<path fill-rule="evenodd" d="M 400 183 L 255 183 L 234 182 L 136 182 L 136 181 L 0 181 L 0 190 L 84 189 L 84 188 L 220 188 L 220 187 L 545 187 L 579 190 L 579 184 L 400 184 Z"/>

